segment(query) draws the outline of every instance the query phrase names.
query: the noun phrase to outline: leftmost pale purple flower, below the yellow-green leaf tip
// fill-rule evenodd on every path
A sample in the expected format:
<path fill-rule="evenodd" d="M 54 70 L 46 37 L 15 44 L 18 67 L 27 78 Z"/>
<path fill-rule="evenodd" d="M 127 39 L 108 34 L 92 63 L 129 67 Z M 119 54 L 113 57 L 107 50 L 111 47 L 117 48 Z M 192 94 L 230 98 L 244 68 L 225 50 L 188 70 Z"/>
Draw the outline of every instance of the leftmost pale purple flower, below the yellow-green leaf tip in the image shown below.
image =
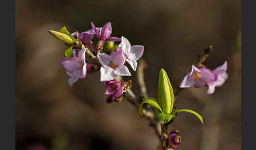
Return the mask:
<path fill-rule="evenodd" d="M 68 57 L 61 61 L 61 65 L 67 71 L 68 83 L 72 86 L 79 78 L 84 79 L 86 76 L 85 49 L 78 52 L 78 57 Z"/>

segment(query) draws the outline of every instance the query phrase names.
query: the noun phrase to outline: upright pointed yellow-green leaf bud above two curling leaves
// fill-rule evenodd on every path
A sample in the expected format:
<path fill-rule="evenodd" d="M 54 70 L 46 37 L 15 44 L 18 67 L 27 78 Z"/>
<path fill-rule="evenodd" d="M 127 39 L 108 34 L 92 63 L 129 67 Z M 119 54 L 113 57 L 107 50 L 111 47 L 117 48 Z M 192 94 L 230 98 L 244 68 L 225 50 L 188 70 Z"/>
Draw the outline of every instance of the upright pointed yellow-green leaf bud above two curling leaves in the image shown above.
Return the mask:
<path fill-rule="evenodd" d="M 164 69 L 161 69 L 159 74 L 158 100 L 165 114 L 172 112 L 174 101 L 173 89 Z"/>

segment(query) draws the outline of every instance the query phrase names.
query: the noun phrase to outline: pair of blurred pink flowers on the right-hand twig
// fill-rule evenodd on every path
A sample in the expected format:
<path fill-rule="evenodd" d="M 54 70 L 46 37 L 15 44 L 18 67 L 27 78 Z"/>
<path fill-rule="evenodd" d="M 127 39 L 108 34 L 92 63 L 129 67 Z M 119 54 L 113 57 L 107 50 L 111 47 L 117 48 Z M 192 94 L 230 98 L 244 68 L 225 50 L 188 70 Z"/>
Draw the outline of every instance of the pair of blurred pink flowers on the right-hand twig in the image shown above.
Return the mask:
<path fill-rule="evenodd" d="M 208 86 L 206 93 L 212 94 L 215 91 L 215 87 L 220 87 L 228 79 L 227 74 L 228 64 L 224 62 L 222 66 L 210 70 L 207 68 L 196 68 L 192 65 L 190 73 L 186 74 L 181 82 L 180 88 L 189 88 L 194 85 L 195 88 L 201 88 Z"/>

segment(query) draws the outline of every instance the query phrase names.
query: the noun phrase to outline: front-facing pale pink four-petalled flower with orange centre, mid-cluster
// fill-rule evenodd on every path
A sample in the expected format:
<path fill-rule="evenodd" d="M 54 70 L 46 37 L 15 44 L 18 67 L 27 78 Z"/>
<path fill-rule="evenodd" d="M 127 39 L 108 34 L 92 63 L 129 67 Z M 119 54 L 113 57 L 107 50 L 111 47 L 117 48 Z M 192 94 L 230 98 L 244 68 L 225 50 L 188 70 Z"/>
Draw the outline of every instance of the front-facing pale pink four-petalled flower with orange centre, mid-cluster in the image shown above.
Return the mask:
<path fill-rule="evenodd" d="M 101 82 L 115 79 L 116 76 L 131 76 L 130 71 L 124 66 L 125 58 L 123 51 L 113 51 L 111 55 L 98 53 L 101 64 Z"/>

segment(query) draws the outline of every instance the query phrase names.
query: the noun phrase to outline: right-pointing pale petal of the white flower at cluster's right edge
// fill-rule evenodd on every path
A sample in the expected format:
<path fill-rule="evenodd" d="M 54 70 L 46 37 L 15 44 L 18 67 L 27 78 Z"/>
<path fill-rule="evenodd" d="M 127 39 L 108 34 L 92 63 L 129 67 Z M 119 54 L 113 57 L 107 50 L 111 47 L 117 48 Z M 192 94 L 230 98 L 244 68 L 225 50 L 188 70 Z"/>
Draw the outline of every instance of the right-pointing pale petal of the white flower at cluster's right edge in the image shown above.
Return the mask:
<path fill-rule="evenodd" d="M 144 51 L 144 46 L 135 45 L 135 46 L 132 46 L 131 51 L 125 53 L 125 55 L 130 60 L 139 60 L 143 55 L 143 51 Z"/>

